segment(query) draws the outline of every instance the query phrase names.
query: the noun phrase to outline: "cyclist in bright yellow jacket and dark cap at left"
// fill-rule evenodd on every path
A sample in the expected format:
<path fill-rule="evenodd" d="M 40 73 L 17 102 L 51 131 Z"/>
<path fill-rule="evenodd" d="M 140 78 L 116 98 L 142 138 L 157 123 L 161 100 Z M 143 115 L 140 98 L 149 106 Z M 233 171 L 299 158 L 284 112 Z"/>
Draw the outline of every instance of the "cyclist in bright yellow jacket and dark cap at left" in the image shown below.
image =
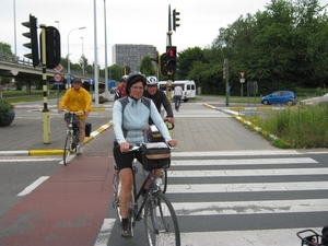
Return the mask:
<path fill-rule="evenodd" d="M 83 153 L 83 142 L 85 138 L 85 122 L 91 110 L 92 101 L 89 92 L 82 87 L 82 80 L 80 78 L 74 78 L 72 80 L 72 87 L 67 90 L 63 97 L 58 106 L 58 113 L 60 114 L 66 107 L 69 112 L 84 112 L 84 115 L 79 115 L 79 130 L 80 130 L 80 152 Z"/>

